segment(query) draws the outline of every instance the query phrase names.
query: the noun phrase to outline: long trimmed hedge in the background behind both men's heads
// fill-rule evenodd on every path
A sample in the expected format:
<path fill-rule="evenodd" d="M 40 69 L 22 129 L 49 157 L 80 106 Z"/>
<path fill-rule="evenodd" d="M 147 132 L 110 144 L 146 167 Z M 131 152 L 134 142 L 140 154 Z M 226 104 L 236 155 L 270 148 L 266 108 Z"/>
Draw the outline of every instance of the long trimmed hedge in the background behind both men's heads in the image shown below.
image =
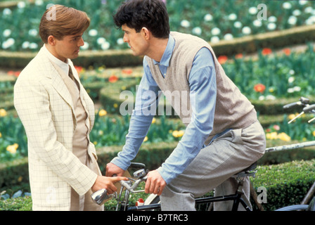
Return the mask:
<path fill-rule="evenodd" d="M 304 25 L 264 34 L 249 35 L 231 41 L 222 40 L 212 44 L 217 56 L 233 56 L 237 53 L 254 53 L 259 49 L 278 49 L 294 44 L 305 44 L 313 41 L 315 30 L 313 25 Z M 27 63 L 34 58 L 36 53 L 0 51 L 0 67 L 25 68 Z M 105 66 L 107 68 L 141 65 L 142 56 L 133 56 L 128 50 L 111 51 L 82 51 L 80 56 L 73 60 L 75 65 L 84 68 L 89 66 Z"/>

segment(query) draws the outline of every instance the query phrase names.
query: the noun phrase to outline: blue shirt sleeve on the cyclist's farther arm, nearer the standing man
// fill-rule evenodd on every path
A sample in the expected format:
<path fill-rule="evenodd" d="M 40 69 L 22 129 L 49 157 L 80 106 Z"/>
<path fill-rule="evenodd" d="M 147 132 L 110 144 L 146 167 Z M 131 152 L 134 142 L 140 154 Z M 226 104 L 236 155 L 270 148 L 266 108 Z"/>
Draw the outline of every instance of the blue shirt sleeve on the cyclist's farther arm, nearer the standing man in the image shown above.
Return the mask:
<path fill-rule="evenodd" d="M 158 107 L 159 95 L 162 93 L 151 75 L 146 57 L 143 59 L 143 70 L 144 74 L 136 92 L 136 103 L 130 118 L 126 143 L 122 151 L 111 161 L 124 170 L 129 167 L 131 160 L 134 160 L 143 139 L 148 134 Z"/>

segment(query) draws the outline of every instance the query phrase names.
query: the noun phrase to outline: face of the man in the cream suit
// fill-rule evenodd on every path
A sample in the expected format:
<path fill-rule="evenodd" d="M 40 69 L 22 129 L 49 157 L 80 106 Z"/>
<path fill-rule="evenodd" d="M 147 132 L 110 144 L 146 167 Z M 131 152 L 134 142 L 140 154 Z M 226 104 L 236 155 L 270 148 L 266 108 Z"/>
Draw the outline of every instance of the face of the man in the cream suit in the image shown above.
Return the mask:
<path fill-rule="evenodd" d="M 77 58 L 79 56 L 80 47 L 84 46 L 82 35 L 83 34 L 68 35 L 61 40 L 54 39 L 54 55 L 56 58 L 63 62 L 65 62 L 67 58 Z"/>

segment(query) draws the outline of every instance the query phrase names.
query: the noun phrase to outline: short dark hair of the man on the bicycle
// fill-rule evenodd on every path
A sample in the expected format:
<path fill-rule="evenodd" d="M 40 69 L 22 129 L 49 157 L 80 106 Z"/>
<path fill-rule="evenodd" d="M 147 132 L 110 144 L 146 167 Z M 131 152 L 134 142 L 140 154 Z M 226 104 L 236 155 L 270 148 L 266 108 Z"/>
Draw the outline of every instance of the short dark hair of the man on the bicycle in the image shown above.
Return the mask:
<path fill-rule="evenodd" d="M 169 15 L 162 0 L 124 1 L 113 18 L 118 28 L 127 25 L 140 32 L 146 27 L 154 37 L 169 37 Z"/>

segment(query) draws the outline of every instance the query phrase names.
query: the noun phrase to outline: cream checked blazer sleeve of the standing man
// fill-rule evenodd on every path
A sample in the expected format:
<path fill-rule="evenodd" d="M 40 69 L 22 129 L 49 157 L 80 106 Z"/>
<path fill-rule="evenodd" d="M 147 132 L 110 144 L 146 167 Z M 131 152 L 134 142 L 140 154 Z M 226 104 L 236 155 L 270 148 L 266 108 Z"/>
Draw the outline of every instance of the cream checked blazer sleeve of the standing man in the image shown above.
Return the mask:
<path fill-rule="evenodd" d="M 97 174 L 58 141 L 50 110 L 53 96 L 49 93 L 53 87 L 42 79 L 19 78 L 14 87 L 14 105 L 25 127 L 29 151 L 31 149 L 32 154 L 68 182 L 79 195 L 86 193 L 96 181 Z"/>

